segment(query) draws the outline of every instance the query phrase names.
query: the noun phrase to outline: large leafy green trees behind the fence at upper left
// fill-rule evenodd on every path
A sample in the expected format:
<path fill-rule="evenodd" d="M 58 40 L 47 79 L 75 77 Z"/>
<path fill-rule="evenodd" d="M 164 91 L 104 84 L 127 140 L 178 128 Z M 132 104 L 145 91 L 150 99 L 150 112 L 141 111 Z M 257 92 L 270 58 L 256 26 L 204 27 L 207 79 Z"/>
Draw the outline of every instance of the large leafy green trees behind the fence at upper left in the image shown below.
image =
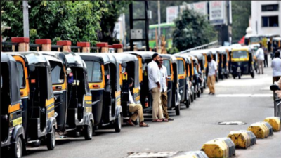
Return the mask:
<path fill-rule="evenodd" d="M 58 40 L 70 40 L 73 45 L 77 41 L 96 44 L 100 40 L 97 32 L 112 34 L 126 4 L 129 1 L 29 1 L 30 42 L 51 39 L 53 44 Z M 1 22 L 11 27 L 3 32 L 8 39 L 23 36 L 21 6 L 22 1 L 1 1 Z"/>

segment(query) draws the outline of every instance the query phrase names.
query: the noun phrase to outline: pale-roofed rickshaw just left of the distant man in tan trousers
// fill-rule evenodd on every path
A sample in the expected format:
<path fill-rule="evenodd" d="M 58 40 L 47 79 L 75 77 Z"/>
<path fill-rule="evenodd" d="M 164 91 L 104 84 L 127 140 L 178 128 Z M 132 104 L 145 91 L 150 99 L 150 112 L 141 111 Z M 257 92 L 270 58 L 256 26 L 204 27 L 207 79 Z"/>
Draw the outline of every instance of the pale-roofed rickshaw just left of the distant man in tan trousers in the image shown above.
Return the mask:
<path fill-rule="evenodd" d="M 206 69 L 208 67 L 208 61 L 207 61 L 207 55 L 204 55 L 201 50 L 196 50 L 196 51 L 190 51 L 188 53 L 190 55 L 195 56 L 197 62 L 198 62 L 198 73 L 200 74 L 200 78 L 202 81 L 199 81 L 200 84 L 200 91 L 203 93 L 204 88 L 206 88 L 206 81 L 207 81 L 207 75 L 206 75 Z"/>

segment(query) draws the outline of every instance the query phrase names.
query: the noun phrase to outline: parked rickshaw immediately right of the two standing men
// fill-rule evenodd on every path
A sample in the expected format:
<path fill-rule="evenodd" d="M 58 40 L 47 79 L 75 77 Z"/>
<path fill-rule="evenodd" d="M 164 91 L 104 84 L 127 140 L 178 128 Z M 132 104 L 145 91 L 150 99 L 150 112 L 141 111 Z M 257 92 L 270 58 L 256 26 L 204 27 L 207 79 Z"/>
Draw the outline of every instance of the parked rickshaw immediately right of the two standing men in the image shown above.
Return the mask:
<path fill-rule="evenodd" d="M 178 67 L 177 60 L 174 55 L 161 54 L 163 58 L 163 65 L 168 73 L 168 110 L 174 109 L 176 115 L 180 115 L 181 105 L 178 93 Z"/>

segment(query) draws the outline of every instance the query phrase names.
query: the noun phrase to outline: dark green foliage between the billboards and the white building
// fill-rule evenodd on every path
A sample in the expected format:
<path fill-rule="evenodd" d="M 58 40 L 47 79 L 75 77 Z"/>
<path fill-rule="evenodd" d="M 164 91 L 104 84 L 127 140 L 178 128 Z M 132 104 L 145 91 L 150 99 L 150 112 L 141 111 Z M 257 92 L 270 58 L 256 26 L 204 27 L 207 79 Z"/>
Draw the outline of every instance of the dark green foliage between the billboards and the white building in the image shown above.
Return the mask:
<path fill-rule="evenodd" d="M 232 1 L 233 41 L 239 41 L 249 27 L 251 16 L 251 1 Z"/>

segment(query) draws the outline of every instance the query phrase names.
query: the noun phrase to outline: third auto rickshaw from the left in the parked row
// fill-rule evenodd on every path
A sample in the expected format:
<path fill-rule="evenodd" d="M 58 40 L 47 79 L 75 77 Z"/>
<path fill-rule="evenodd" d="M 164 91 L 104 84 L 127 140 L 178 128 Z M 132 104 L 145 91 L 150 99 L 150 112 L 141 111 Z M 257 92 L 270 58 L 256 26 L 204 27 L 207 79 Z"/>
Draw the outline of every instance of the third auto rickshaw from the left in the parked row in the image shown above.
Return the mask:
<path fill-rule="evenodd" d="M 75 53 L 40 53 L 51 65 L 55 112 L 58 114 L 55 131 L 67 136 L 82 132 L 86 140 L 91 140 L 94 120 L 86 64 Z"/>

